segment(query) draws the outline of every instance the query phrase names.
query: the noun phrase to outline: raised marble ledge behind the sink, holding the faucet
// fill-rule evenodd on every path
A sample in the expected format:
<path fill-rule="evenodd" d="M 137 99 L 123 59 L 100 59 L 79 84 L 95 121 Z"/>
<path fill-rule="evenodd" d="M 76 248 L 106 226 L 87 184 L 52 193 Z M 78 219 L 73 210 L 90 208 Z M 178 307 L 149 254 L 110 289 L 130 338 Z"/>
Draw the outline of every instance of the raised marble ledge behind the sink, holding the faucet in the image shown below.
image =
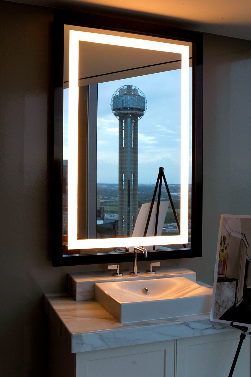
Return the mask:
<path fill-rule="evenodd" d="M 132 270 L 121 271 L 122 277 L 113 276 L 113 270 L 85 272 L 81 274 L 68 274 L 68 292 L 76 301 L 88 301 L 94 299 L 94 284 L 104 283 L 107 281 L 126 281 L 126 280 L 145 280 L 145 279 L 161 279 L 163 277 L 186 277 L 196 282 L 196 273 L 180 266 L 156 267 L 155 275 L 149 275 L 146 270 L 139 270 L 140 276 L 131 276 Z"/>

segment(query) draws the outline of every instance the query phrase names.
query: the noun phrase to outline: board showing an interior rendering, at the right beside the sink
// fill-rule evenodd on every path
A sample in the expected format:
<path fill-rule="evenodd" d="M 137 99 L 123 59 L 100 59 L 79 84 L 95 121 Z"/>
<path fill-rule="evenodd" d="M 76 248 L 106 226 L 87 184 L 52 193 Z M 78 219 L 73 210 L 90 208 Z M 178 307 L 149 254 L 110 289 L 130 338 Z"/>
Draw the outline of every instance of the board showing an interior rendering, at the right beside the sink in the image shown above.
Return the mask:
<path fill-rule="evenodd" d="M 251 325 L 251 216 L 222 215 L 211 321 Z"/>

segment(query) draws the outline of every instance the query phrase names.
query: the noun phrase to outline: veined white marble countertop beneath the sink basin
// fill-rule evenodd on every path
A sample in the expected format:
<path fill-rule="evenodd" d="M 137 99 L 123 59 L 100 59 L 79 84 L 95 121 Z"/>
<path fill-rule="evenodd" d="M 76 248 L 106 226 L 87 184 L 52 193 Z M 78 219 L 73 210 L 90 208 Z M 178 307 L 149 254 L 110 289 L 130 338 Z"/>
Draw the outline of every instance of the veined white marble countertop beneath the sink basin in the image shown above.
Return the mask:
<path fill-rule="evenodd" d="M 122 324 L 96 301 L 68 293 L 45 294 L 44 307 L 72 353 L 236 331 L 209 313 Z"/>

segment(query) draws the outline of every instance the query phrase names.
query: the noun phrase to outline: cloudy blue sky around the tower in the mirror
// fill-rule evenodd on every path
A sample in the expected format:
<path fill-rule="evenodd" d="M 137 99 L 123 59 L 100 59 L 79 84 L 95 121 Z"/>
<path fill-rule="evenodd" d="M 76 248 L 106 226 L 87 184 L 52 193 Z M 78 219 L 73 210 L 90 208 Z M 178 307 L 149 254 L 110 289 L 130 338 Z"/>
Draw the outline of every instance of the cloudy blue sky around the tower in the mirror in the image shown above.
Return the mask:
<path fill-rule="evenodd" d="M 160 166 L 164 167 L 167 183 L 180 183 L 180 80 L 181 70 L 177 69 L 98 85 L 97 183 L 118 182 L 119 121 L 110 102 L 113 93 L 128 84 L 142 90 L 148 103 L 145 115 L 138 121 L 138 183 L 154 184 Z M 67 103 L 68 90 L 64 95 Z M 67 118 L 64 106 L 64 158 Z"/>

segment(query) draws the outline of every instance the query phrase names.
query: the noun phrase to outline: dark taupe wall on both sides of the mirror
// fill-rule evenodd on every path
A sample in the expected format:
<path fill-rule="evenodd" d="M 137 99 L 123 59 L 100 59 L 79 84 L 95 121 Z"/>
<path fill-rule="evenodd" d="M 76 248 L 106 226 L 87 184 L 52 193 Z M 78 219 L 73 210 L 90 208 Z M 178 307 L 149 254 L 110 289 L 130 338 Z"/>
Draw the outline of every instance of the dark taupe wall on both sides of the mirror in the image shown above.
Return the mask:
<path fill-rule="evenodd" d="M 53 10 L 0 2 L 0 375 L 47 375 L 43 293 L 66 290 L 52 267 Z M 251 42 L 204 38 L 203 256 L 163 262 L 212 283 L 221 213 L 251 214 Z M 146 262 L 144 262 L 146 264 Z M 124 266 L 125 267 L 125 266 Z"/>

